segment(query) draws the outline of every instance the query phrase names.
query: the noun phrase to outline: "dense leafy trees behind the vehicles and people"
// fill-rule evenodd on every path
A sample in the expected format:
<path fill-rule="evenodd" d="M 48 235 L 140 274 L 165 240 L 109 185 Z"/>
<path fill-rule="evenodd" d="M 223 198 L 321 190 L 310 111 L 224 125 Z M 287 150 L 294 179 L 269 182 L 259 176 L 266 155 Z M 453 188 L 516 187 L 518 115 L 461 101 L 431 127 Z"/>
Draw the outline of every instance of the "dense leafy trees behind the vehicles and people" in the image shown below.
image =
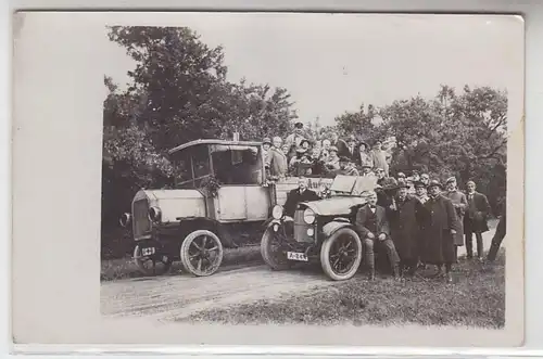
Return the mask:
<path fill-rule="evenodd" d="M 117 218 L 140 188 L 171 183 L 168 149 L 194 139 L 286 137 L 298 115 L 287 89 L 226 79 L 224 49 L 210 48 L 189 28 L 111 27 L 109 37 L 135 60 L 126 89 L 104 78 L 102 241 L 119 236 Z M 392 169 L 475 179 L 491 204 L 505 196 L 507 95 L 491 88 L 443 86 L 435 99 L 371 105 L 310 132 L 395 136 Z M 109 239 L 111 236 L 111 239 Z"/>

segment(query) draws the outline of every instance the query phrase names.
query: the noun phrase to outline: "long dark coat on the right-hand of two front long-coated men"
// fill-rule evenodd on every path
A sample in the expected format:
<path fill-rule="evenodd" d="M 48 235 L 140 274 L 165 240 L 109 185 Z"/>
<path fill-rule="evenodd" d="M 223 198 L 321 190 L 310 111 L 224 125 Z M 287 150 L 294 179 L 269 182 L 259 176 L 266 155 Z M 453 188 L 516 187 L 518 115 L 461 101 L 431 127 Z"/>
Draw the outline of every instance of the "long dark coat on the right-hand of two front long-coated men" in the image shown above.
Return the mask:
<path fill-rule="evenodd" d="M 422 253 L 420 259 L 430 265 L 454 262 L 456 260 L 454 239 L 451 230 L 458 231 L 458 221 L 451 200 L 443 195 L 429 198 L 424 207 Z"/>

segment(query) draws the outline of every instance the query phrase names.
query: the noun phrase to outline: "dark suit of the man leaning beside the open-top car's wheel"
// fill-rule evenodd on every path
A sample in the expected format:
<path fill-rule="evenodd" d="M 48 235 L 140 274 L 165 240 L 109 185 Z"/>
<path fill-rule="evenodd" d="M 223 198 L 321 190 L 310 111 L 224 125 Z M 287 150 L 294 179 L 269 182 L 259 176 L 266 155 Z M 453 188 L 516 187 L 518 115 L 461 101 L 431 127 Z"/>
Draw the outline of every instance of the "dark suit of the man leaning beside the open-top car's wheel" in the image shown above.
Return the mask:
<path fill-rule="evenodd" d="M 365 247 L 365 261 L 370 270 L 375 269 L 374 246 L 382 246 L 387 251 L 390 264 L 395 267 L 400 262 L 394 243 L 390 238 L 390 226 L 387 219 L 387 213 L 383 207 L 376 206 L 375 213 L 369 204 L 358 209 L 356 214 L 355 229 L 361 234 Z M 372 233 L 374 238 L 368 238 Z M 386 234 L 383 241 L 379 240 L 379 234 Z"/>

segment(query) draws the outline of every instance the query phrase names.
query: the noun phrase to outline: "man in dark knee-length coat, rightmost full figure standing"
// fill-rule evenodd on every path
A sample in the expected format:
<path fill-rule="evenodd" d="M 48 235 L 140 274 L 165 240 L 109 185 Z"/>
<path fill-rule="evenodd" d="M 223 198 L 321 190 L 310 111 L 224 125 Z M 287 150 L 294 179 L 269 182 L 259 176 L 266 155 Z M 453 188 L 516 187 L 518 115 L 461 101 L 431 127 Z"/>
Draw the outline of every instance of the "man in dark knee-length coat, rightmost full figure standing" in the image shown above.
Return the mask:
<path fill-rule="evenodd" d="M 479 260 L 482 260 L 484 251 L 482 233 L 489 230 L 489 225 L 487 223 L 487 218 L 490 213 L 489 200 L 487 200 L 484 194 L 476 191 L 473 181 L 468 181 L 466 187 L 468 208 L 464 217 L 464 233 L 466 234 L 467 257 L 468 259 L 473 257 L 472 233 L 475 233 L 477 239 L 477 257 Z"/>

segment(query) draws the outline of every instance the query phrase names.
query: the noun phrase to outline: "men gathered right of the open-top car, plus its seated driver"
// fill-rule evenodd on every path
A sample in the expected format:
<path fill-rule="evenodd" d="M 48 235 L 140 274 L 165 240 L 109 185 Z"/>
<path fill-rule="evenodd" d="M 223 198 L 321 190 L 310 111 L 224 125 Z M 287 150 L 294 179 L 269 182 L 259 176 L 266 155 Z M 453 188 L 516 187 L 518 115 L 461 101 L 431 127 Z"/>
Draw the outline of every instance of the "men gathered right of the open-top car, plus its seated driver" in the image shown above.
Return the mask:
<path fill-rule="evenodd" d="M 306 181 L 302 177 L 299 189 L 289 193 L 286 203 L 289 216 L 298 203 L 318 197 L 307 189 Z M 454 177 L 445 184 L 429 180 L 425 174 L 415 174 L 408 181 L 386 177 L 378 183 L 375 191 L 367 193 L 367 204 L 357 210 L 354 222 L 363 241 L 370 280 L 375 279 L 375 251 L 388 257 L 396 279 L 415 275 L 421 266 L 433 265 L 438 269 L 435 277 L 452 282 L 457 248 L 466 245 L 467 258 L 473 258 L 473 234 L 477 258 L 483 260 L 482 233 L 489 231 L 490 205 L 473 181 L 466 183 L 465 193 L 458 190 Z M 504 235 L 505 211 L 487 256 L 489 261 L 495 259 Z"/>

